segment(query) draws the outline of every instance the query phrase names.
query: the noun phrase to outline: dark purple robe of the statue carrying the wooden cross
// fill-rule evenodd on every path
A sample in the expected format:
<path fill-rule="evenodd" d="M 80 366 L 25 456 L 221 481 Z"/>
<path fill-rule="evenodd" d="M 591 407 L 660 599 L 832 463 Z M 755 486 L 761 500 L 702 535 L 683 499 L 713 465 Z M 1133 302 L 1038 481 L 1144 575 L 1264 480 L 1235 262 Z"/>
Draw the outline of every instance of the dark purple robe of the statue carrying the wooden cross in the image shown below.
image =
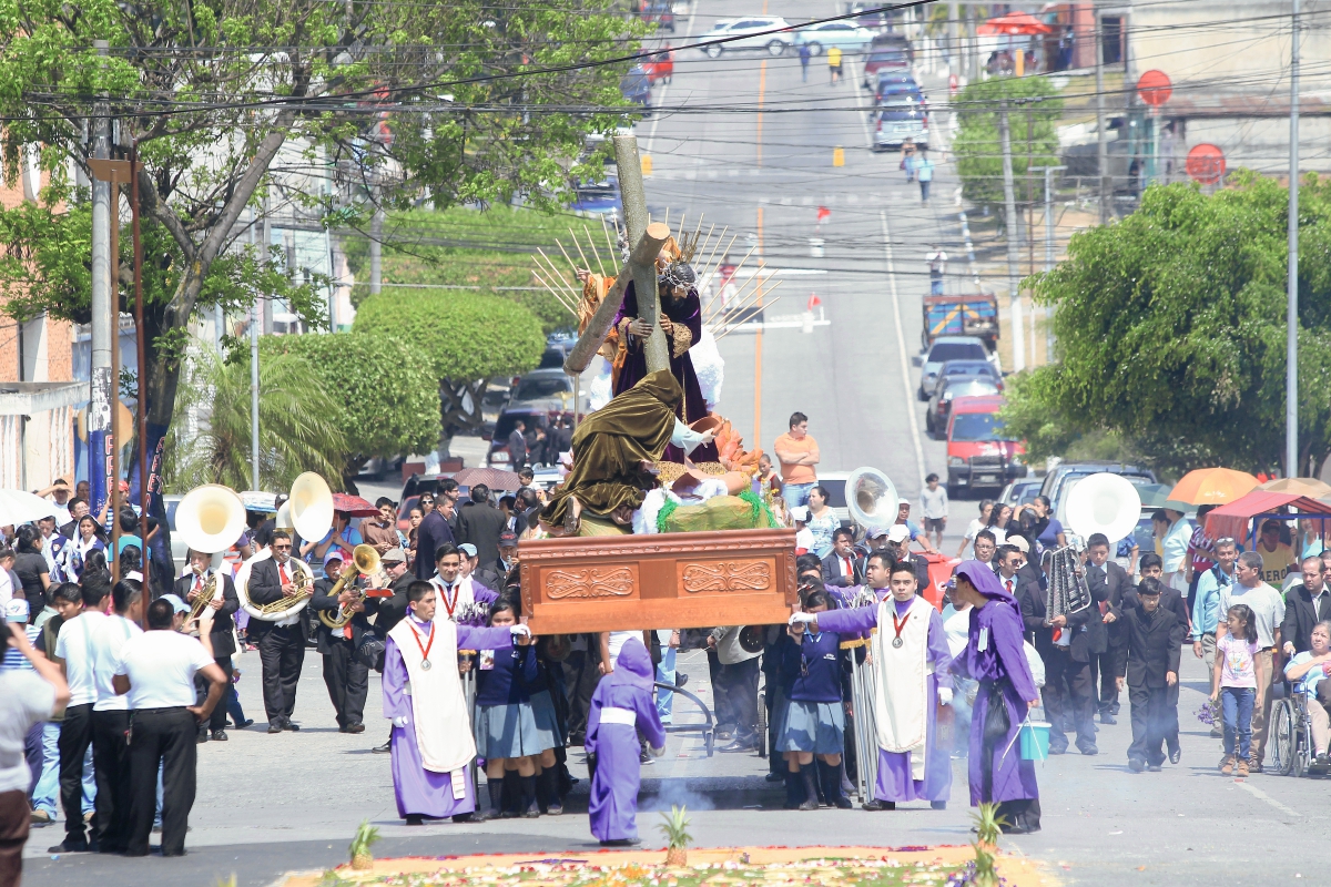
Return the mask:
<path fill-rule="evenodd" d="M 703 338 L 703 303 L 697 298 L 697 290 L 689 290 L 683 299 L 662 297 L 662 314 L 668 317 L 676 327 L 673 336 L 666 336 L 669 348 L 669 371 L 684 391 L 684 402 L 680 404 L 679 418 L 685 426 L 707 416 L 707 402 L 703 400 L 703 390 L 697 384 L 697 374 L 693 372 L 693 359 L 688 356 L 688 350 Z M 638 294 L 630 281 L 624 289 L 624 302 L 615 315 L 615 328 L 620 336 L 628 342 L 628 351 L 624 354 L 624 366 L 619 368 L 615 379 L 615 394 L 623 394 L 642 382 L 647 375 L 647 352 L 643 343 L 624 332 L 623 323 L 638 318 Z M 687 330 L 687 335 L 685 335 Z M 684 451 L 675 444 L 666 445 L 664 461 L 684 461 Z M 716 444 L 703 444 L 689 455 L 693 461 L 716 461 L 719 453 Z"/>

